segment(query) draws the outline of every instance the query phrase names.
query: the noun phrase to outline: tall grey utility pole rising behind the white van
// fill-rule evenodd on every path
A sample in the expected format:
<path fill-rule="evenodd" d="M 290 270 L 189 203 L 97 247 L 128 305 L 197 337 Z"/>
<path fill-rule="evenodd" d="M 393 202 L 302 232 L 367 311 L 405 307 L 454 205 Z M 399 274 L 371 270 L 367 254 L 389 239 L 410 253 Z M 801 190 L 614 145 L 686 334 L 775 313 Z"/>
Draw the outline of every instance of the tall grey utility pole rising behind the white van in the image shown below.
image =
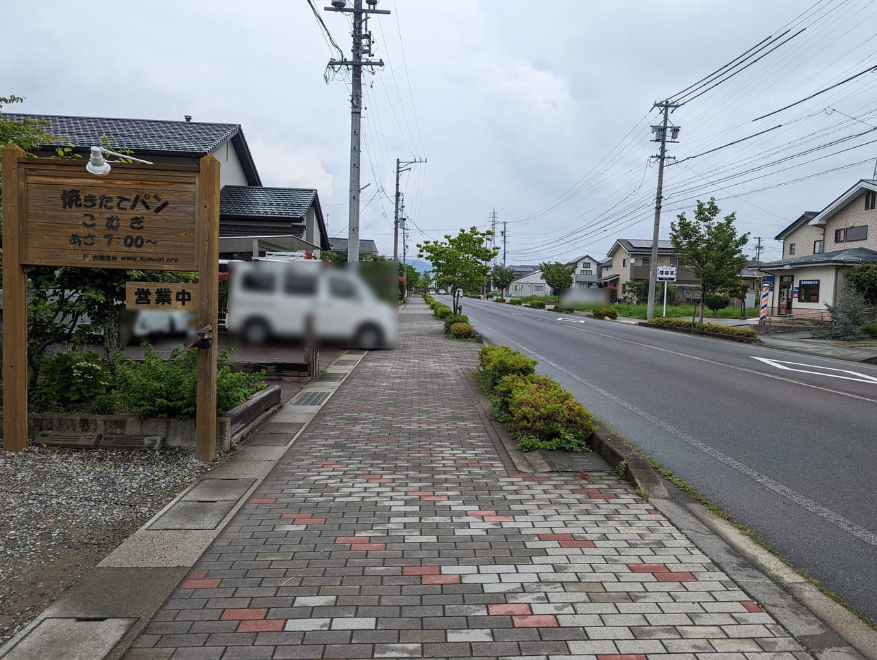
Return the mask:
<path fill-rule="evenodd" d="M 362 9 L 362 0 L 353 0 L 348 7 L 345 0 L 332 0 L 325 11 L 353 14 L 353 48 L 350 60 L 329 60 L 329 67 L 351 67 L 353 85 L 350 95 L 350 206 L 347 221 L 347 261 L 360 260 L 360 121 L 362 119 L 362 67 L 382 67 L 383 60 L 363 60 L 372 54 L 372 33 L 368 32 L 368 14 L 389 14 L 374 9 L 377 1 L 367 0 L 369 9 Z"/>

